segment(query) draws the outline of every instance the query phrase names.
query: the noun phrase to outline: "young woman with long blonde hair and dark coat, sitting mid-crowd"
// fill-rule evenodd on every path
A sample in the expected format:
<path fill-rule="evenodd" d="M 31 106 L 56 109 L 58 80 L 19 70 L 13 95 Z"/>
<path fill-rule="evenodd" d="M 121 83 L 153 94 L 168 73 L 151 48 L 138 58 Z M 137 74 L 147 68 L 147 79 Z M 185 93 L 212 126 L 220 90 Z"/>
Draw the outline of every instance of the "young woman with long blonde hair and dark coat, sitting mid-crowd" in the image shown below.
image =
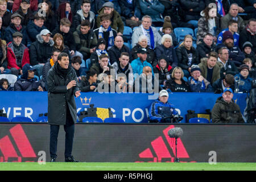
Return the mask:
<path fill-rule="evenodd" d="M 183 43 L 176 49 L 178 66 L 182 68 L 187 78 L 190 76 L 191 65 L 200 63 L 199 54 L 192 44 L 192 36 L 186 35 Z"/>

